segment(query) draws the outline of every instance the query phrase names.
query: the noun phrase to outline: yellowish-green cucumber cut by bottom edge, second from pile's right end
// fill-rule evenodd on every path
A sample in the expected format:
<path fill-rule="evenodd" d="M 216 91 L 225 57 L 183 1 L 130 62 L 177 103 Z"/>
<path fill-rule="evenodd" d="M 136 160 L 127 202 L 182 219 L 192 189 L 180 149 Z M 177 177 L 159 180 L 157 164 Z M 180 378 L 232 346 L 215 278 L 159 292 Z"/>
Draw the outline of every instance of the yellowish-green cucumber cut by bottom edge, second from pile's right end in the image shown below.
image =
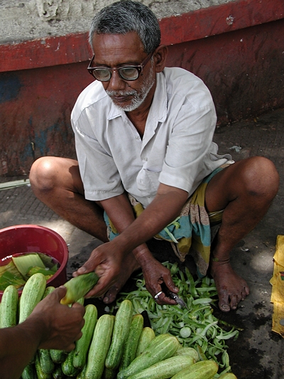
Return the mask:
<path fill-rule="evenodd" d="M 200 361 L 173 375 L 172 379 L 212 379 L 218 371 L 215 361 Z"/>

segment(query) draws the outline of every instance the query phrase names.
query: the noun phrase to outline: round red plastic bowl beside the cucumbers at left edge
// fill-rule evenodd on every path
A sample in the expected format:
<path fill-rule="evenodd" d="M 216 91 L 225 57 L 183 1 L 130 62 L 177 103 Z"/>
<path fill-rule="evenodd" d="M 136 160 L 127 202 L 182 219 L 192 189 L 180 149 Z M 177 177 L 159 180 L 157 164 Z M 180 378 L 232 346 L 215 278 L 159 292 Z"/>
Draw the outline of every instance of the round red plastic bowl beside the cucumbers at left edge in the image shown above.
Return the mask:
<path fill-rule="evenodd" d="M 54 230 L 39 225 L 15 225 L 0 230 L 0 259 L 18 252 L 43 252 L 60 263 L 47 284 L 59 287 L 67 281 L 68 248 Z M 18 291 L 21 295 L 21 290 Z M 0 291 L 0 300 L 3 291 Z"/>

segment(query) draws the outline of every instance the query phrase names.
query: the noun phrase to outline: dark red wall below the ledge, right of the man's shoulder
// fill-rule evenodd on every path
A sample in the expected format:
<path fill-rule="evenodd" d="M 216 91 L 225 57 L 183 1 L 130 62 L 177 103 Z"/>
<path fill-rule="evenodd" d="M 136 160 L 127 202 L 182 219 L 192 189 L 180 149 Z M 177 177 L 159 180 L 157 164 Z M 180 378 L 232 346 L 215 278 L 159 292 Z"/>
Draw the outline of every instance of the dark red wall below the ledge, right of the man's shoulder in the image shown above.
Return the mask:
<path fill-rule="evenodd" d="M 284 107 L 284 19 L 169 47 L 168 64 L 204 80 L 218 123 Z"/>

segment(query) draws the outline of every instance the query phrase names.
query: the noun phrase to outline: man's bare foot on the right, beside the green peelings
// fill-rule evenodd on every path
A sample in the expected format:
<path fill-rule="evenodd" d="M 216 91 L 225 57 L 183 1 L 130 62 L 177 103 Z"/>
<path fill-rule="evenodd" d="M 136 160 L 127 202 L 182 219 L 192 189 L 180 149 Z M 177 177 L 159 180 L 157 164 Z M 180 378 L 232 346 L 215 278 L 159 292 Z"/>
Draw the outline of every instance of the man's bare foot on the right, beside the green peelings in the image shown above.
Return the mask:
<path fill-rule="evenodd" d="M 236 309 L 239 302 L 249 295 L 248 284 L 234 272 L 229 261 L 211 262 L 210 273 L 217 288 L 219 309 L 222 311 Z"/>

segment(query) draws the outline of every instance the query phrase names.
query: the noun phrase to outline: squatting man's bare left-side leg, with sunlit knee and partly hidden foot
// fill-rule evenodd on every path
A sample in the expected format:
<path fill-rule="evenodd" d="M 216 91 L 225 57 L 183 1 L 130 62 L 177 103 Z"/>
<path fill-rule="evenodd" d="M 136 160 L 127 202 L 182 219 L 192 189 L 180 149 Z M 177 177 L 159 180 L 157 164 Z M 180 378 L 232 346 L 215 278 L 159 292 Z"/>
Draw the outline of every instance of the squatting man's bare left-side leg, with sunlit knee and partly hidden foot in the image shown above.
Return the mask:
<path fill-rule="evenodd" d="M 102 208 L 84 198 L 77 161 L 53 156 L 40 158 L 31 168 L 30 181 L 35 196 L 60 217 L 102 242 L 108 241 Z M 124 270 L 105 294 L 104 302 L 109 304 L 114 301 L 127 279 L 138 268 L 134 256 L 128 255 Z"/>

